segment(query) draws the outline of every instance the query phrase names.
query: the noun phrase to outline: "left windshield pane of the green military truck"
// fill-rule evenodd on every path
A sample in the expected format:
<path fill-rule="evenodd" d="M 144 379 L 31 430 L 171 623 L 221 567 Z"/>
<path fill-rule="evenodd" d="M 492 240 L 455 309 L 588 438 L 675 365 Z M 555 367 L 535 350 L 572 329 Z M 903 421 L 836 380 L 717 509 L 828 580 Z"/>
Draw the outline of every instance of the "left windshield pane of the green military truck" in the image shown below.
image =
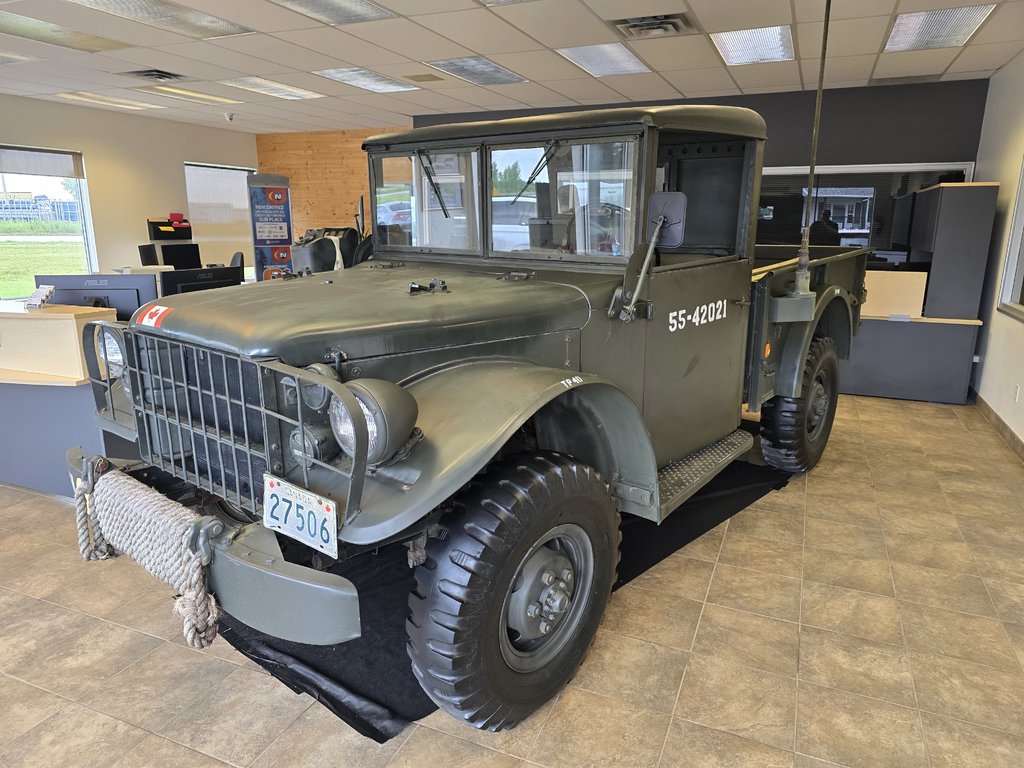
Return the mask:
<path fill-rule="evenodd" d="M 374 158 L 377 243 L 480 253 L 480 156 L 475 150 Z"/>

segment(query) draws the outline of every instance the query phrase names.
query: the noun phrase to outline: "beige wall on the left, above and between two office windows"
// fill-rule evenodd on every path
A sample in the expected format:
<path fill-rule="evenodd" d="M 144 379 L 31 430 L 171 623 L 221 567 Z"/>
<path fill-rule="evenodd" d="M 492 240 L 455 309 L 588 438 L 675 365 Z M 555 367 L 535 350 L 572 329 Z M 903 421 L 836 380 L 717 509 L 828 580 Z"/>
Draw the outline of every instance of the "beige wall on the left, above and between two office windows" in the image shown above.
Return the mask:
<path fill-rule="evenodd" d="M 247 133 L 7 95 L 0 116 L 0 143 L 82 153 L 100 270 L 137 263 L 147 218 L 187 214 L 186 161 L 256 167 Z"/>

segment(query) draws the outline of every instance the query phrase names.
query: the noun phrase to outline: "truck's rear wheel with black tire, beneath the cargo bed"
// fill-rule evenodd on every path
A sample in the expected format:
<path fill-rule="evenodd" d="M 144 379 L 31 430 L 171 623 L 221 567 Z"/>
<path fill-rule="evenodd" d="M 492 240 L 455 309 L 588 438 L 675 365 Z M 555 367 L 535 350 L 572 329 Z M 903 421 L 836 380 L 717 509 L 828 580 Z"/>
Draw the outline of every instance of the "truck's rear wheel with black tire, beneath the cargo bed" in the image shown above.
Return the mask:
<path fill-rule="evenodd" d="M 807 472 L 821 458 L 839 402 L 839 354 L 828 336 L 811 340 L 800 397 L 772 397 L 761 410 L 761 452 L 787 472 Z"/>

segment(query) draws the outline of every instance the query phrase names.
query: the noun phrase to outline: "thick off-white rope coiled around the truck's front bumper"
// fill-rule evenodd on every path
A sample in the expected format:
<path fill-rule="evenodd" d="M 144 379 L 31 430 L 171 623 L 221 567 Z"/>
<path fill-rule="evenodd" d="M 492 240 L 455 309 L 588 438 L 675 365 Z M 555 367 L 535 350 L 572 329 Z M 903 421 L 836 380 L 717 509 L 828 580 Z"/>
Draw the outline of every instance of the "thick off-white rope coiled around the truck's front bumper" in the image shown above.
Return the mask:
<path fill-rule="evenodd" d="M 217 602 L 206 589 L 200 555 L 189 547 L 190 510 L 123 472 L 98 474 L 87 461 L 75 488 L 78 546 L 86 560 L 123 553 L 178 592 L 174 611 L 185 641 L 205 648 L 217 636 Z"/>

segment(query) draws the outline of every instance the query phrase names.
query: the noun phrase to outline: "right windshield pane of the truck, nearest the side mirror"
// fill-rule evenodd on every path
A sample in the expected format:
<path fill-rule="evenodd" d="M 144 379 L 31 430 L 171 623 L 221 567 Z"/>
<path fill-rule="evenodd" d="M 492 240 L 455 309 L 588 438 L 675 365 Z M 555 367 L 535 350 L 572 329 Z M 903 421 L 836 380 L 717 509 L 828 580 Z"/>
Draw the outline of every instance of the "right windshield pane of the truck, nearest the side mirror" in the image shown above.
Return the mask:
<path fill-rule="evenodd" d="M 492 250 L 628 258 L 636 144 L 612 139 L 494 150 Z"/>

